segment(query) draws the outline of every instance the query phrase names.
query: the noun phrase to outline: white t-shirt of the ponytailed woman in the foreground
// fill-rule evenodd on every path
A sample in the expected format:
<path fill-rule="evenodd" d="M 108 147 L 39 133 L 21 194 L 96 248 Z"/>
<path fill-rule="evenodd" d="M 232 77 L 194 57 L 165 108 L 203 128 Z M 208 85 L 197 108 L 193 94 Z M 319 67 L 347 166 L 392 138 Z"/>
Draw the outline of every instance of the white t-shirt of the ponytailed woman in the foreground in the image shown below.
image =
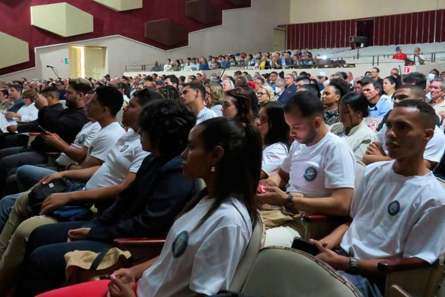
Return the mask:
<path fill-rule="evenodd" d="M 193 231 L 213 201 L 202 199 L 175 221 L 159 259 L 138 281 L 137 296 L 214 295 L 229 288 L 252 236 L 252 222 L 244 204 L 228 198 Z"/>

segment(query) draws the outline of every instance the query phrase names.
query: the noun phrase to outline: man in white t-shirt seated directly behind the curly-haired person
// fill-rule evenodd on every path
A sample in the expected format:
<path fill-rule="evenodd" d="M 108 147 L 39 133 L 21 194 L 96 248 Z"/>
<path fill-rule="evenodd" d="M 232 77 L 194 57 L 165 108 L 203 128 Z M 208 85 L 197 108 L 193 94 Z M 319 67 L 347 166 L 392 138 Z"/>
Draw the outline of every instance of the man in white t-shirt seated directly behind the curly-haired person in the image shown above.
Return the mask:
<path fill-rule="evenodd" d="M 218 117 L 215 111 L 204 106 L 206 89 L 202 84 L 189 83 L 184 85 L 181 98 L 190 110 L 196 113 L 196 125 L 199 123 Z"/>

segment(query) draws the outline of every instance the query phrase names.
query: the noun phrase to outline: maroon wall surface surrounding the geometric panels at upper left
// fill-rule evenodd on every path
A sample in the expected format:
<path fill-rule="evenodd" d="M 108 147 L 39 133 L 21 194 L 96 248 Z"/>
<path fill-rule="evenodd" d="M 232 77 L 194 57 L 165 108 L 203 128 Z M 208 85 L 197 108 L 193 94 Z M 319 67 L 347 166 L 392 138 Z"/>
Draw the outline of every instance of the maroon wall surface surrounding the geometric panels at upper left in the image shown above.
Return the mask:
<path fill-rule="evenodd" d="M 144 0 L 141 9 L 117 12 L 94 1 L 64 0 L 94 16 L 94 32 L 71 37 L 61 37 L 43 29 L 31 26 L 30 6 L 50 4 L 54 0 L 0 0 L 1 31 L 29 43 L 30 60 L 25 63 L 0 69 L 0 75 L 35 66 L 34 49 L 62 43 L 75 43 L 80 40 L 94 39 L 111 35 L 122 35 L 136 41 L 158 47 L 171 49 L 186 46 L 187 41 L 169 47 L 144 37 L 144 23 L 169 18 L 178 23 L 186 32 L 197 31 L 222 24 L 222 13 L 212 24 L 203 24 L 186 16 L 188 0 Z M 224 0 L 208 0 L 212 5 L 223 9 L 239 8 Z M 250 6 L 250 1 L 243 1 L 244 7 Z"/>

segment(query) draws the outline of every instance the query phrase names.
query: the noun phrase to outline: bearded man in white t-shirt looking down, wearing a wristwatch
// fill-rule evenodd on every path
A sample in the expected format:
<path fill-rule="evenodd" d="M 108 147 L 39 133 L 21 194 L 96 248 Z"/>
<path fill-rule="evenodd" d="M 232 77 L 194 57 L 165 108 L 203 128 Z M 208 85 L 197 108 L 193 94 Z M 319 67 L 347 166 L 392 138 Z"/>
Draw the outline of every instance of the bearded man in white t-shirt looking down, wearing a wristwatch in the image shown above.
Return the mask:
<path fill-rule="evenodd" d="M 284 118 L 294 142 L 277 173 L 260 184 L 268 193 L 257 195 L 270 205 L 291 211 L 348 216 L 354 195 L 356 159 L 351 147 L 329 132 L 320 99 L 297 92 L 284 107 Z M 285 188 L 287 192 L 280 190 Z M 289 193 L 303 193 L 304 198 Z M 266 245 L 291 246 L 298 232 L 284 225 L 267 230 Z"/>

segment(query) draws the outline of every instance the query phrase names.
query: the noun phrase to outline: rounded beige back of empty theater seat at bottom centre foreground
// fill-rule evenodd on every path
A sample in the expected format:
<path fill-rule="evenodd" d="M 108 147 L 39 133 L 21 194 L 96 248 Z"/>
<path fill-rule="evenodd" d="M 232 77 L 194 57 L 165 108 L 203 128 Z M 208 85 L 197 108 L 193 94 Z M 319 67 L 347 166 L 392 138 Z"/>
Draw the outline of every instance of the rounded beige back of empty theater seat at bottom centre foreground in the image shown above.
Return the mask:
<path fill-rule="evenodd" d="M 348 280 L 312 255 L 288 247 L 260 250 L 241 293 L 265 297 L 361 297 Z"/>

